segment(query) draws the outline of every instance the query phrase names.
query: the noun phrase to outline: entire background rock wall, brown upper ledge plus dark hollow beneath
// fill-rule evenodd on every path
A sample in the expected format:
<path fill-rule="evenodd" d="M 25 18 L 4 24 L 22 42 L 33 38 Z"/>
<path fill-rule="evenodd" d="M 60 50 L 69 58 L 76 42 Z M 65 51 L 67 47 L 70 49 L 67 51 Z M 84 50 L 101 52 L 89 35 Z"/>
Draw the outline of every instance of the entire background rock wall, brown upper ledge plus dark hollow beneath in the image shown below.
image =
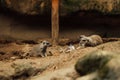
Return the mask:
<path fill-rule="evenodd" d="M 120 37 L 120 0 L 60 0 L 60 38 Z M 50 0 L 0 0 L 0 36 L 51 37 Z"/>

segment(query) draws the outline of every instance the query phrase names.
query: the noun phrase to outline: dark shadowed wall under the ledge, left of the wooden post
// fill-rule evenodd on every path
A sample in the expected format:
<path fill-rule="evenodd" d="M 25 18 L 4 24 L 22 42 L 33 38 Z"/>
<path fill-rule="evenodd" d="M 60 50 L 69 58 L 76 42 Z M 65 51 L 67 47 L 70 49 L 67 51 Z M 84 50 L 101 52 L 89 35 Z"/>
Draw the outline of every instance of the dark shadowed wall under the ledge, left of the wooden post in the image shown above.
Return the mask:
<path fill-rule="evenodd" d="M 27 40 L 50 38 L 50 17 L 0 13 L 0 37 Z"/>

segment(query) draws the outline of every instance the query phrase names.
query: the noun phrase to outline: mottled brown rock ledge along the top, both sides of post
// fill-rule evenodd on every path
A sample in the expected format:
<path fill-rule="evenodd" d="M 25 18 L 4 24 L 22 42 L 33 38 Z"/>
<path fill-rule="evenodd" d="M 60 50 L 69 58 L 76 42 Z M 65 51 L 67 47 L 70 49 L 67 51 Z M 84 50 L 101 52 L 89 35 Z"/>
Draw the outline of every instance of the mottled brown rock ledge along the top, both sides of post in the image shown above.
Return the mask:
<path fill-rule="evenodd" d="M 50 14 L 51 0 L 0 0 L 0 5 L 23 14 Z M 60 14 L 96 10 L 119 14 L 120 0 L 60 0 Z"/>

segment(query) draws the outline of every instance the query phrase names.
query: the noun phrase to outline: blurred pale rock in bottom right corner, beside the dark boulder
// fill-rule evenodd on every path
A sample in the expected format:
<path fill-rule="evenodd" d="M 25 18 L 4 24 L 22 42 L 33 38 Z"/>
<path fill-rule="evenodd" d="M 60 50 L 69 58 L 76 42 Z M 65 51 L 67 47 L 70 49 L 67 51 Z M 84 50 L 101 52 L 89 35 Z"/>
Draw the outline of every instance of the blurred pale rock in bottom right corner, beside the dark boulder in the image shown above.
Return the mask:
<path fill-rule="evenodd" d="M 120 55 L 111 59 L 99 71 L 100 80 L 120 80 Z"/>

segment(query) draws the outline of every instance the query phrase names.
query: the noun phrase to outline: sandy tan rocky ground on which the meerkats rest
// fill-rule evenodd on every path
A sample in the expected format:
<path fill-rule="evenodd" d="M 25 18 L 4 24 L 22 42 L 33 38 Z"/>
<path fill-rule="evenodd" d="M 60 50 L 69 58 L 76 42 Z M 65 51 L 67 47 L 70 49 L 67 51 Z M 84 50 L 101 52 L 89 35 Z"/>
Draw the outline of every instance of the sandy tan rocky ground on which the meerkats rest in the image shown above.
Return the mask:
<path fill-rule="evenodd" d="M 75 71 L 78 59 L 96 50 L 120 52 L 120 41 L 114 41 L 70 53 L 60 53 L 60 49 L 66 46 L 51 46 L 47 57 L 24 56 L 34 45 L 15 42 L 0 44 L 0 80 L 81 80 Z"/>

